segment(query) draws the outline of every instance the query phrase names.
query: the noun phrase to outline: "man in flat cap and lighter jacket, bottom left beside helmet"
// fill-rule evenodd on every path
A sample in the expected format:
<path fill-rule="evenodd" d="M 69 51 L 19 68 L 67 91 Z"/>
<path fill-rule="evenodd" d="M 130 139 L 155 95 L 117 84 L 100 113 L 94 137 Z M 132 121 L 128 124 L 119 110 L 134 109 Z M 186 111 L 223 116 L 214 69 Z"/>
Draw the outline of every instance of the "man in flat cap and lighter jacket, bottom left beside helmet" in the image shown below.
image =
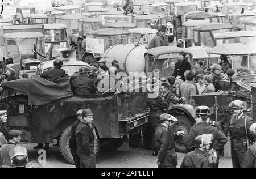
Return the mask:
<path fill-rule="evenodd" d="M 20 142 L 22 131 L 10 130 L 8 134 L 9 142 L 0 148 L 0 168 L 14 168 L 13 164 L 11 164 L 9 153 Z"/>

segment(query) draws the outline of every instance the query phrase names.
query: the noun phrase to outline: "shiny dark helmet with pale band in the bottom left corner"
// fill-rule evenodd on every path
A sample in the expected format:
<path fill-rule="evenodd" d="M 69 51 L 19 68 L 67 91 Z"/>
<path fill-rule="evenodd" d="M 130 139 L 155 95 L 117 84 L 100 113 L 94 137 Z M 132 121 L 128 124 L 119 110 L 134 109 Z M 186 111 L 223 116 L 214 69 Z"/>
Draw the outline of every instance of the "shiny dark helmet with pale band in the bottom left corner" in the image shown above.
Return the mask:
<path fill-rule="evenodd" d="M 16 146 L 9 152 L 11 164 L 14 167 L 26 167 L 27 165 L 27 149 L 22 146 Z"/>

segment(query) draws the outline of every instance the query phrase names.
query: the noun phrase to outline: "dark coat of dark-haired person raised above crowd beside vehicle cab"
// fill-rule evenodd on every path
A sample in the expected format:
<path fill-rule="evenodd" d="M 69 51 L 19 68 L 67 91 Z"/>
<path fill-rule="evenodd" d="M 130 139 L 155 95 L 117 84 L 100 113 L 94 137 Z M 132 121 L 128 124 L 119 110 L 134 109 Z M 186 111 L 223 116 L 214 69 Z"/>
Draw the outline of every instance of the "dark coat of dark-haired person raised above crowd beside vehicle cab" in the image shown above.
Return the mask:
<path fill-rule="evenodd" d="M 191 65 L 187 61 L 187 59 L 184 59 L 183 61 L 177 61 L 174 67 L 174 74 L 172 76 L 175 76 L 175 77 L 181 76 L 181 79 L 185 81 L 186 79 L 185 79 L 184 73 L 187 70 L 191 70 Z"/>

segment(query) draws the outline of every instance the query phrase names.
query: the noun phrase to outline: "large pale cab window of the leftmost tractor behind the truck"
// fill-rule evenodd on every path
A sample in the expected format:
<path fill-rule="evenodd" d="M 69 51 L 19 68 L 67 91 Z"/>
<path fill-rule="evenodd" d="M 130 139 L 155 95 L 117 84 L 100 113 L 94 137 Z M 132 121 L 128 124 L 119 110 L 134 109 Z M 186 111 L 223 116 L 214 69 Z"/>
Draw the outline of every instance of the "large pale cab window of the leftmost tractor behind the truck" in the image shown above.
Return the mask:
<path fill-rule="evenodd" d="M 37 38 L 18 39 L 20 54 L 34 54 L 31 49 L 34 49 L 37 42 Z"/>

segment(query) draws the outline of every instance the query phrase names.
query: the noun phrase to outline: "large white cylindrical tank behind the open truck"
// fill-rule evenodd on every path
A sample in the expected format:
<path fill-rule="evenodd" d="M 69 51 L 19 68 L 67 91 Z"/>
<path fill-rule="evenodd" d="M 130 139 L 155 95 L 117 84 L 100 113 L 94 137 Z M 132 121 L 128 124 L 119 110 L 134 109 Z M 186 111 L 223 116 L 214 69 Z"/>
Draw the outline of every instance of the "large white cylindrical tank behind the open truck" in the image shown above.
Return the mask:
<path fill-rule="evenodd" d="M 119 66 L 125 69 L 127 73 L 141 73 L 145 69 L 144 54 L 146 50 L 146 45 L 114 45 L 106 50 L 103 57 L 106 59 L 106 66 L 108 67 L 111 67 L 111 62 L 116 59 Z"/>

